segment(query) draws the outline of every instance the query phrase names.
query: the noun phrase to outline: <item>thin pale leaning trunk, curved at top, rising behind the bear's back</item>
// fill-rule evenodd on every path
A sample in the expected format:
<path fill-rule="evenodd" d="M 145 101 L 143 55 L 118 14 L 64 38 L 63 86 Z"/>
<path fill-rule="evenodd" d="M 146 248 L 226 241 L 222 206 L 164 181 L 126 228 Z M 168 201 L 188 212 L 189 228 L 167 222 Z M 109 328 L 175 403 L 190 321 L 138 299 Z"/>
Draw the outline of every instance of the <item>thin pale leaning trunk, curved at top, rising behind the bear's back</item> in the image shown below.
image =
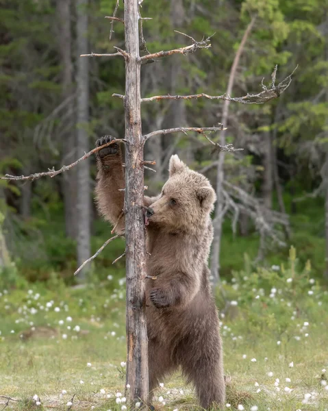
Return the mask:
<path fill-rule="evenodd" d="M 244 49 L 244 45 L 251 33 L 251 29 L 255 23 L 255 17 L 252 18 L 251 23 L 249 23 L 246 31 L 244 32 L 244 36 L 242 37 L 242 41 L 240 42 L 240 46 L 234 58 L 234 62 L 231 66 L 231 71 L 229 75 L 229 82 L 227 86 L 227 95 L 231 95 L 232 88 L 234 87 L 234 81 L 236 77 L 236 71 L 238 68 L 240 55 L 242 54 L 242 50 Z M 223 103 L 223 113 L 222 113 L 222 123 L 223 125 L 227 125 L 227 119 L 229 114 L 229 105 L 230 101 L 225 100 Z M 225 130 L 220 132 L 220 145 L 225 145 Z M 223 170 L 223 164 L 225 162 L 225 151 L 222 151 L 218 154 L 218 165 L 217 165 L 217 176 L 216 176 L 216 195 L 218 197 L 216 203 L 216 212 L 215 212 L 215 219 L 214 219 L 214 238 L 212 243 L 212 255 L 211 255 L 211 278 L 214 286 L 218 284 L 220 281 L 220 246 L 221 246 L 221 237 L 222 237 L 222 225 L 223 225 L 223 206 L 224 206 L 224 199 L 223 196 L 220 195 L 222 192 L 222 185 L 225 179 L 225 174 Z"/>

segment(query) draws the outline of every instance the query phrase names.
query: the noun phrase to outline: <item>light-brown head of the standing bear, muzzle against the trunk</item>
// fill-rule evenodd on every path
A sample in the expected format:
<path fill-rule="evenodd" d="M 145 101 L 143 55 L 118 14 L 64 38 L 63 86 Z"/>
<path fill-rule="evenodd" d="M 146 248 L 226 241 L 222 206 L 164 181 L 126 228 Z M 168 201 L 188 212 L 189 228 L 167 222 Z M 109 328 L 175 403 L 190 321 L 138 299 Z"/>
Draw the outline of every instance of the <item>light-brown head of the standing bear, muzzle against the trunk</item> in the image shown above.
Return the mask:
<path fill-rule="evenodd" d="M 172 155 L 169 178 L 160 199 L 151 205 L 149 222 L 168 232 L 194 232 L 208 223 L 216 194 L 208 179 L 192 171 L 177 155 Z"/>

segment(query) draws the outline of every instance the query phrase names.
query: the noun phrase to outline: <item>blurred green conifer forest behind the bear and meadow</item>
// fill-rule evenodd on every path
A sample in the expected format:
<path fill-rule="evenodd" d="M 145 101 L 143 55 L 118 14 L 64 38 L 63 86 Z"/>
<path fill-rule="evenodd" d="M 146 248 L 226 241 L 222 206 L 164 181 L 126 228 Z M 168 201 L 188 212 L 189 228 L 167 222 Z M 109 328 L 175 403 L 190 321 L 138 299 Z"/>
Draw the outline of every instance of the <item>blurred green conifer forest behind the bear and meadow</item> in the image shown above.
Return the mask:
<path fill-rule="evenodd" d="M 116 1 L 83 4 L 88 16 L 89 49 L 111 53 L 124 48 L 123 25 L 111 23 Z M 124 89 L 124 62 L 88 59 L 88 92 L 77 92 L 81 42 L 73 2 L 1 1 L 0 16 L 0 171 L 28 175 L 69 164 L 94 147 L 104 134 L 124 134 L 123 104 L 112 97 Z M 118 10 L 118 17 L 120 12 Z M 318 279 L 328 276 L 328 7 L 323 0 L 145 1 L 142 14 L 149 51 L 211 38 L 212 48 L 175 55 L 142 66 L 142 97 L 221 95 L 242 36 L 251 27 L 236 70 L 232 97 L 262 90 L 278 64 L 277 80 L 290 74 L 286 92 L 264 105 L 231 103 L 225 139 L 242 151 L 225 153 L 220 276 L 242 269 L 244 255 L 253 264 L 279 265 L 294 245 L 301 262 L 311 260 Z M 189 43 L 188 43 L 189 44 Z M 84 118 L 77 108 L 88 110 Z M 142 130 L 210 127 L 222 120 L 223 101 L 168 100 L 142 105 Z M 87 136 L 81 151 L 80 134 Z M 217 140 L 219 134 L 212 134 Z M 147 142 L 148 193 L 160 190 L 168 158 L 178 153 L 216 186 L 218 155 L 201 135 L 171 134 Z M 80 155 L 79 155 L 80 154 Z M 222 155 L 222 153 L 220 154 Z M 94 158 L 53 179 L 0 182 L 1 256 L 8 286 L 60 276 L 74 284 L 73 272 L 110 236 L 93 201 Z M 87 177 L 86 177 L 87 176 Z M 86 201 L 79 201 L 81 191 Z M 83 211 L 84 209 L 84 211 Z M 82 214 L 81 214 L 82 213 Z M 84 215 L 86 218 L 79 218 Z M 112 243 L 94 261 L 92 281 L 124 269 L 112 267 L 124 249 Z M 15 269 L 12 263 L 14 262 Z M 83 278 L 80 277 L 83 281 Z M 12 284 L 10 284 L 12 283 Z"/>

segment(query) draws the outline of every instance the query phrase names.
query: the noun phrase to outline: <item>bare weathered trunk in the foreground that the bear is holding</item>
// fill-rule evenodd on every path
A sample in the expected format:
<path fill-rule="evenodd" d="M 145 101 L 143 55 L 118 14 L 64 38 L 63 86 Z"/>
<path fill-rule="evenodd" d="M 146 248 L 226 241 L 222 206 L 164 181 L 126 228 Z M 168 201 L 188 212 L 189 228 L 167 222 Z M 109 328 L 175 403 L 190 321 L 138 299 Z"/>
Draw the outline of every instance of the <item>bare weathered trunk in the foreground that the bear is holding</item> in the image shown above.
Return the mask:
<path fill-rule="evenodd" d="M 125 0 L 125 238 L 127 271 L 127 384 L 129 400 L 148 401 L 145 299 L 144 170 L 140 112 L 138 1 Z"/>

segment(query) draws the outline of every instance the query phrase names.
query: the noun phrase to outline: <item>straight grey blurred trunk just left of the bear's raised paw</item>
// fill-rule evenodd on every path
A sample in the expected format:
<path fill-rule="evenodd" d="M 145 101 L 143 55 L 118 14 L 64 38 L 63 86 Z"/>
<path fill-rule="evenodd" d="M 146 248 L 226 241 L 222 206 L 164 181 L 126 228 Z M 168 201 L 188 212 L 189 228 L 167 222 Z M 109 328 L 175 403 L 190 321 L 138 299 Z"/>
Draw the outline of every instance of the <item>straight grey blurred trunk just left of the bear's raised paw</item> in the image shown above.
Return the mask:
<path fill-rule="evenodd" d="M 77 55 L 88 49 L 88 0 L 77 0 Z M 77 58 L 77 157 L 89 151 L 89 59 Z M 90 257 L 90 159 L 77 165 L 77 266 Z M 86 271 L 81 272 L 82 279 Z"/>

